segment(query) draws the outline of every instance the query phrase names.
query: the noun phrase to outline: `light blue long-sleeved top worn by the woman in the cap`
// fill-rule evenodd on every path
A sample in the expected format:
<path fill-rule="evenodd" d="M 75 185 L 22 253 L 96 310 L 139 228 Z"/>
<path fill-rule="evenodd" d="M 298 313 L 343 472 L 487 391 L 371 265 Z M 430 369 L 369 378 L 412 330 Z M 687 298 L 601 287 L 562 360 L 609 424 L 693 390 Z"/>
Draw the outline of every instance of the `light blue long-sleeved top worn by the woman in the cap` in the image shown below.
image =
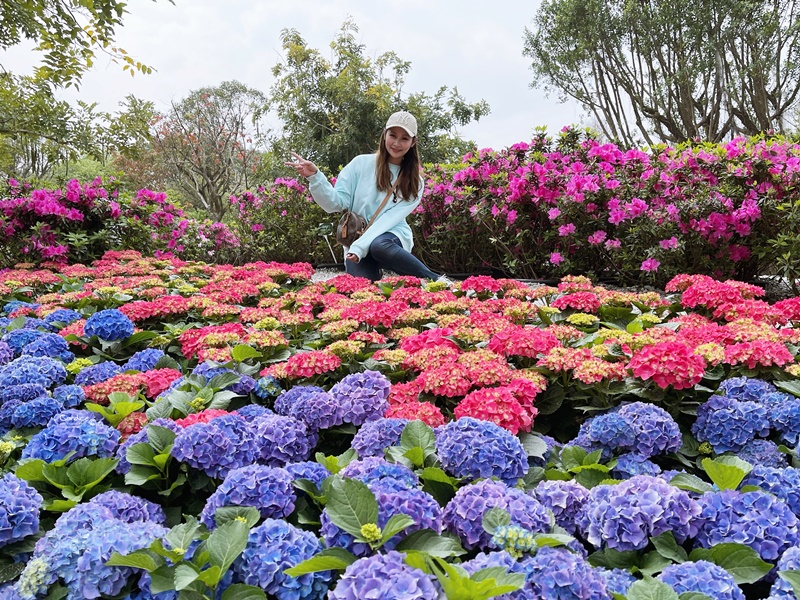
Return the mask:
<path fill-rule="evenodd" d="M 356 156 L 339 173 L 336 185 L 331 185 L 325 175 L 317 171 L 308 178 L 311 197 L 325 212 L 333 213 L 350 209 L 364 217 L 369 223 L 372 215 L 386 197 L 386 192 L 380 191 L 376 185 L 377 159 L 377 154 Z M 400 173 L 400 165 L 390 164 L 389 169 L 392 172 L 392 183 L 394 183 Z M 414 239 L 411 235 L 411 228 L 406 223 L 406 217 L 419 205 L 422 190 L 423 184 L 420 183 L 419 196 L 410 202 L 400 198 L 399 194 L 396 202 L 389 198 L 380 216 L 364 232 L 364 235 L 345 251 L 352 252 L 361 260 L 369 253 L 369 245 L 372 240 L 382 233 L 391 231 L 400 239 L 403 248 L 411 252 Z"/>

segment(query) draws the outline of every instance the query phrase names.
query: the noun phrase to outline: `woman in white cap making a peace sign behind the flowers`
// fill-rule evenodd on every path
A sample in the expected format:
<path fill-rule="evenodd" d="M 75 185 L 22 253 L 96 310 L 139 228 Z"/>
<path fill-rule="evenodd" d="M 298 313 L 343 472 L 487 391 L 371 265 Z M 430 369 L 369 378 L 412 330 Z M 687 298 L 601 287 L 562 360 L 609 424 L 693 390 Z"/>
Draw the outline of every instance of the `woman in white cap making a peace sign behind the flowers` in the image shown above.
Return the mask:
<path fill-rule="evenodd" d="M 390 116 L 381 133 L 378 151 L 350 161 L 339 173 L 335 186 L 313 162 L 294 152 L 292 156 L 295 160 L 285 163 L 286 166 L 308 178 L 311 196 L 325 212 L 349 209 L 369 222 L 391 192 L 391 198 L 372 225 L 352 246 L 345 248 L 345 271 L 350 275 L 377 281 L 382 277 L 381 269 L 388 269 L 398 275 L 451 283 L 411 254 L 414 240 L 406 217 L 419 204 L 424 186 L 414 115 L 399 111 Z"/>

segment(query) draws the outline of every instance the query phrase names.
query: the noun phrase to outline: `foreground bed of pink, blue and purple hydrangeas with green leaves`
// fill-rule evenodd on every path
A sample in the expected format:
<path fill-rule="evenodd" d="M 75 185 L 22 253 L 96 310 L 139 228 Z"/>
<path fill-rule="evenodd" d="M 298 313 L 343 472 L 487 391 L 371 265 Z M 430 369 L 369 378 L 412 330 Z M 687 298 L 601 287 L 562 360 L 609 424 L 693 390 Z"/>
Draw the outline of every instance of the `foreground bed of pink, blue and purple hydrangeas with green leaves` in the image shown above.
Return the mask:
<path fill-rule="evenodd" d="M 800 299 L 312 273 L 0 272 L 0 598 L 795 597 Z"/>

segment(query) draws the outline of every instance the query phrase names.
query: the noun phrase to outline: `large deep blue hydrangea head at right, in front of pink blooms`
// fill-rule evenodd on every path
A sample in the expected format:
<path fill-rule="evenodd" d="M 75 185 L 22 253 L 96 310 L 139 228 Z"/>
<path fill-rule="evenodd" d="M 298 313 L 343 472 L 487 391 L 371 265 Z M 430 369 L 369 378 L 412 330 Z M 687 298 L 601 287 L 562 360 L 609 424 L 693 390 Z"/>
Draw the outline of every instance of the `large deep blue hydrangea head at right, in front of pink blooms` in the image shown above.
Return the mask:
<path fill-rule="evenodd" d="M 754 402 L 714 395 L 697 408 L 692 434 L 708 442 L 717 454 L 737 452 L 758 436 L 769 433 L 767 410 Z"/>

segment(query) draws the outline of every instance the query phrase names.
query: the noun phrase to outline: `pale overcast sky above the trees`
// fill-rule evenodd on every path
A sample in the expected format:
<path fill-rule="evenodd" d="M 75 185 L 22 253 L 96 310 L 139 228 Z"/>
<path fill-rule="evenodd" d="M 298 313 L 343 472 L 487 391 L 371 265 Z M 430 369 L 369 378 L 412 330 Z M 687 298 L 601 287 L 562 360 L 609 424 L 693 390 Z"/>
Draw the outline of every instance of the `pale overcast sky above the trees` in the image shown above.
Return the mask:
<path fill-rule="evenodd" d="M 491 113 L 464 127 L 479 147 L 504 148 L 530 140 L 534 127 L 551 134 L 580 124 L 574 103 L 559 103 L 530 87 L 522 55 L 524 30 L 539 1 L 506 0 L 131 0 L 117 43 L 156 69 L 131 77 L 99 55 L 84 77 L 80 98 L 114 111 L 126 95 L 165 110 L 191 90 L 238 80 L 268 92 L 272 67 L 282 60 L 280 32 L 297 29 L 306 43 L 330 56 L 330 42 L 352 17 L 368 56 L 394 51 L 411 62 L 404 92 L 458 88 L 469 102 L 486 100 Z M 0 63 L 27 72 L 34 52 L 14 48 Z M 74 93 L 66 94 L 75 98 Z M 272 123 L 272 126 L 278 125 Z"/>

